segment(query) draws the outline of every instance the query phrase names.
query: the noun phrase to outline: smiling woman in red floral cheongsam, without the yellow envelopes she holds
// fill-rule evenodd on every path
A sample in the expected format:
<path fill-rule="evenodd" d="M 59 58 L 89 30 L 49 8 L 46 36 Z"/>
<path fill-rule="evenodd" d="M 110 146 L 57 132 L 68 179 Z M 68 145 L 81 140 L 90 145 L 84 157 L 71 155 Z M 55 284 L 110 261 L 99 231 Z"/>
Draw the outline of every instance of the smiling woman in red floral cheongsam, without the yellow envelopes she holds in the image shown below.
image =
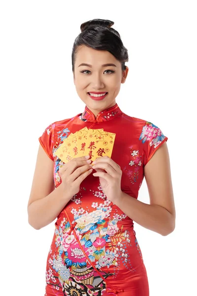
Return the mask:
<path fill-rule="evenodd" d="M 45 296 L 148 296 L 133 221 L 162 235 L 175 227 L 167 137 L 151 122 L 125 114 L 115 101 L 129 69 L 113 24 L 95 19 L 81 25 L 72 71 L 85 111 L 52 123 L 39 138 L 29 223 L 40 229 L 57 218 Z M 111 157 L 92 149 L 65 164 L 57 149 L 86 127 L 115 133 Z M 137 200 L 144 176 L 150 205 Z"/>

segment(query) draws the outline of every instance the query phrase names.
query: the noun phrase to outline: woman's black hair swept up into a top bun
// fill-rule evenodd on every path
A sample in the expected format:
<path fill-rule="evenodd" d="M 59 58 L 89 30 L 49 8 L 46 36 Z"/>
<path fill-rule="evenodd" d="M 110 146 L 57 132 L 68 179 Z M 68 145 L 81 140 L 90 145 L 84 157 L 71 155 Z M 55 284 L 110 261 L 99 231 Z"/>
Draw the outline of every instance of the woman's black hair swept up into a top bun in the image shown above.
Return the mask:
<path fill-rule="evenodd" d="M 122 70 L 126 70 L 125 62 L 129 61 L 127 48 L 123 45 L 118 31 L 111 28 L 114 22 L 109 20 L 94 19 L 81 24 L 81 33 L 74 40 L 72 47 L 72 71 L 76 51 L 80 45 L 97 50 L 109 51 L 118 61 L 122 63 Z"/>

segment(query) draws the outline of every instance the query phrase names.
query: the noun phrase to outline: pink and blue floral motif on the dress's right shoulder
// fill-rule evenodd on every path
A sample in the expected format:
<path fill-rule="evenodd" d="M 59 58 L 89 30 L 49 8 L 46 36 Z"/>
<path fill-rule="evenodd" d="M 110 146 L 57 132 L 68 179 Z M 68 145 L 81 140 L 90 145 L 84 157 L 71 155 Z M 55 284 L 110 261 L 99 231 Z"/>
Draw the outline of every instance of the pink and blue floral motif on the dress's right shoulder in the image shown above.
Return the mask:
<path fill-rule="evenodd" d="M 165 136 L 159 127 L 146 121 L 146 125 L 142 128 L 139 140 L 142 140 L 142 144 L 144 144 L 146 140 L 151 140 L 150 146 L 154 145 L 154 148 L 156 148 L 164 140 L 164 138 Z"/>

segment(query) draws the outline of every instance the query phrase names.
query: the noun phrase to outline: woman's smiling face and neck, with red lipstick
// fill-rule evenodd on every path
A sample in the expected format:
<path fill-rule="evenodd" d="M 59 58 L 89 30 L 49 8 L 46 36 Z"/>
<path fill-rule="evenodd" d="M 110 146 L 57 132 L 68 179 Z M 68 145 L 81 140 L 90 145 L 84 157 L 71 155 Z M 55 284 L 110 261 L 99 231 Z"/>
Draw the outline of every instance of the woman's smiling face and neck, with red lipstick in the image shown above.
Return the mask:
<path fill-rule="evenodd" d="M 126 67 L 122 71 L 121 63 L 108 51 L 85 45 L 78 47 L 73 73 L 74 84 L 78 96 L 95 116 L 116 104 L 115 98 L 121 83 L 127 78 L 128 70 Z"/>

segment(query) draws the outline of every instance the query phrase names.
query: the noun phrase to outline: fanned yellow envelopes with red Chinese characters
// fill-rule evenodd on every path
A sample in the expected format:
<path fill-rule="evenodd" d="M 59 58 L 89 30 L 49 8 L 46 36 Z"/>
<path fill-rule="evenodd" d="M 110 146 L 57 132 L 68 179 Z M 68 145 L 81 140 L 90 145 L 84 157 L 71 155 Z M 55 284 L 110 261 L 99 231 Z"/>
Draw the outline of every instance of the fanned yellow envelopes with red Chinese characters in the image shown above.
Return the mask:
<path fill-rule="evenodd" d="M 115 133 L 103 131 L 103 129 L 82 128 L 74 134 L 70 134 L 56 150 L 55 154 L 64 163 L 72 158 L 90 155 L 92 161 L 97 157 L 111 157 Z"/>

